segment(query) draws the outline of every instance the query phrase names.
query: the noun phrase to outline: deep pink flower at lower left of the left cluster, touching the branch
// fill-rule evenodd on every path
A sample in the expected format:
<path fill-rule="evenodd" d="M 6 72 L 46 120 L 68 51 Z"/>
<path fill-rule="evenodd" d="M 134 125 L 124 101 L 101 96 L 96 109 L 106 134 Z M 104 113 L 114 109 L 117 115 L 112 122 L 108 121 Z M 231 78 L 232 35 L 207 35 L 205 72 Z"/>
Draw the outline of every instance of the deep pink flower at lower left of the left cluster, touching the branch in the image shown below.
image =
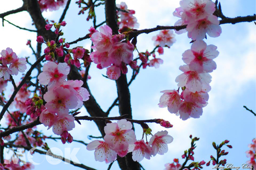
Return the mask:
<path fill-rule="evenodd" d="M 44 124 L 44 126 L 48 126 L 48 129 L 52 127 L 52 125 L 57 121 L 57 116 L 55 113 L 51 113 L 44 109 L 40 114 L 39 121 Z"/>

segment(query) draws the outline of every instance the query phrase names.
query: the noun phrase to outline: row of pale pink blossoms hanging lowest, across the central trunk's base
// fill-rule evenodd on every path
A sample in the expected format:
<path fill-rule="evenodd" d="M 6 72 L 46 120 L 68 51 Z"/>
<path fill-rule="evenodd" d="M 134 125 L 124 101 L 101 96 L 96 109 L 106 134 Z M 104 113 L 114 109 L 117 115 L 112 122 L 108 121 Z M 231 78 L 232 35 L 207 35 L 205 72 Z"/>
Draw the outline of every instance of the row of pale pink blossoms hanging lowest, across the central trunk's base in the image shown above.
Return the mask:
<path fill-rule="evenodd" d="M 141 161 L 145 157 L 150 159 L 157 154 L 167 153 L 167 144 L 173 141 L 168 132 L 160 131 L 154 134 L 149 142 L 143 139 L 136 140 L 131 122 L 125 119 L 116 123 L 108 123 L 104 127 L 104 141 L 95 140 L 87 145 L 87 150 L 95 150 L 94 156 L 96 161 L 113 162 L 117 155 L 124 157 L 127 153 L 132 152 L 134 161 Z"/>

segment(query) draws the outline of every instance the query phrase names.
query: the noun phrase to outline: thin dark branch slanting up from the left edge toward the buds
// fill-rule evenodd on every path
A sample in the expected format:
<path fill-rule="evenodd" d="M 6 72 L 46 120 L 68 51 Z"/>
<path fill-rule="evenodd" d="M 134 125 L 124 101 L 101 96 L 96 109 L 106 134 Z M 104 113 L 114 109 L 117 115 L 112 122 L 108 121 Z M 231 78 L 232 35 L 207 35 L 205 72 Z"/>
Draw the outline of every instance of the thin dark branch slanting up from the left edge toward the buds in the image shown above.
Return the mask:
<path fill-rule="evenodd" d="M 11 103 L 13 102 L 16 94 L 18 93 L 18 91 L 20 90 L 20 88 L 23 86 L 23 84 L 26 82 L 26 80 L 29 78 L 30 74 L 32 73 L 32 70 L 44 59 L 44 56 L 41 56 L 33 65 L 31 65 L 31 67 L 29 68 L 29 71 L 26 73 L 26 75 L 23 77 L 23 79 L 21 80 L 20 84 L 18 85 L 17 88 L 14 89 L 12 96 L 10 97 L 9 101 L 3 106 L 3 109 L 0 113 L 0 120 L 3 118 L 3 114 L 6 112 L 6 110 L 9 108 L 9 106 L 11 105 Z"/>

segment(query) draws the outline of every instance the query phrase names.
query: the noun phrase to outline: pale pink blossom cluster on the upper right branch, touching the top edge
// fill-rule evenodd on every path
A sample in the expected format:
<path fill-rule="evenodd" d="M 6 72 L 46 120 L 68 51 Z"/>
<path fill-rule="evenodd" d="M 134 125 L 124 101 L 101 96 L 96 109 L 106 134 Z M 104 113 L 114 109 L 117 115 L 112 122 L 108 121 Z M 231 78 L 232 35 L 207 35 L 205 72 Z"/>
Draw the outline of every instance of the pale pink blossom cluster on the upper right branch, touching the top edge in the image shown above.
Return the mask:
<path fill-rule="evenodd" d="M 175 17 L 181 18 L 175 26 L 187 26 L 175 32 L 182 34 L 188 31 L 188 37 L 192 40 L 203 40 L 206 34 L 210 37 L 220 36 L 220 21 L 213 15 L 214 11 L 215 3 L 211 0 L 181 0 L 180 7 L 173 12 Z"/>

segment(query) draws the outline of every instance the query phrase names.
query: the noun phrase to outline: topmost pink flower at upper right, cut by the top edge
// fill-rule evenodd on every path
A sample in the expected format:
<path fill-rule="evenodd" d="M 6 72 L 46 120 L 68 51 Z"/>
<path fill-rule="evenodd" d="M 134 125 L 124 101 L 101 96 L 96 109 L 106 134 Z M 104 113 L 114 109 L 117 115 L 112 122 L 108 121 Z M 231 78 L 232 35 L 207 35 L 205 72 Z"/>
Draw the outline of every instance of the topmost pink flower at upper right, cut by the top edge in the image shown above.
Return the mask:
<path fill-rule="evenodd" d="M 181 16 L 185 23 L 204 19 L 215 11 L 215 3 L 209 0 L 181 0 L 180 6 L 184 10 Z"/>

